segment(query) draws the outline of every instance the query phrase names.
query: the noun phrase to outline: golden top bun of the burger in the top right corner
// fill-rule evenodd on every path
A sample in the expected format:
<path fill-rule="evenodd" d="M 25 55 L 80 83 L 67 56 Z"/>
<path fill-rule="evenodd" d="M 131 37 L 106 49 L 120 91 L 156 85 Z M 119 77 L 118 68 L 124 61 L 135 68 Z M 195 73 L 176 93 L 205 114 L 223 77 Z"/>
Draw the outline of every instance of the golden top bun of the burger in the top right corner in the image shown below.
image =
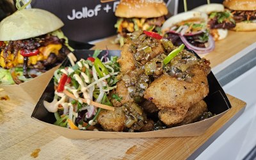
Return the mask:
<path fill-rule="evenodd" d="M 255 0 L 225 0 L 223 5 L 229 10 L 256 10 Z"/>

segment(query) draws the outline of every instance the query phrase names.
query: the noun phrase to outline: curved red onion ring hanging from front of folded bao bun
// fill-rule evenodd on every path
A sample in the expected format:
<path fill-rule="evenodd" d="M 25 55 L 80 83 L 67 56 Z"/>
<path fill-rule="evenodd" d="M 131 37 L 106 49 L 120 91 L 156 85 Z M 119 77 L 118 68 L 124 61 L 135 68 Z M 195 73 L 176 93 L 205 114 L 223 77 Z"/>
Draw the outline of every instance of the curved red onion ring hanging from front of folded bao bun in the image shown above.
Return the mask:
<path fill-rule="evenodd" d="M 180 36 L 180 40 L 182 40 L 182 42 L 186 45 L 186 47 L 188 47 L 188 49 L 192 49 L 193 51 L 195 51 L 198 54 L 205 54 L 207 52 L 211 52 L 213 51 L 215 44 L 214 44 L 214 40 L 212 38 L 211 35 L 209 35 L 209 39 L 208 39 L 208 47 L 202 48 L 202 47 L 196 47 L 195 45 L 192 45 L 188 42 L 188 40 L 186 40 L 186 38 L 184 36 Z"/>

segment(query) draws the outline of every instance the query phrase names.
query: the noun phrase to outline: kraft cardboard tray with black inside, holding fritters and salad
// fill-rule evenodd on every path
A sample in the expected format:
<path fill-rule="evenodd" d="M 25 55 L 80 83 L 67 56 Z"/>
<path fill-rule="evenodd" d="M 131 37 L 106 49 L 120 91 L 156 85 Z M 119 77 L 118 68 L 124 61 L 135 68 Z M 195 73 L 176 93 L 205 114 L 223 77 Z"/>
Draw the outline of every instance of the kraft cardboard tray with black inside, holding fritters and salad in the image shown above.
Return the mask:
<path fill-rule="evenodd" d="M 94 51 L 92 50 L 77 50 L 74 54 L 77 60 L 80 58 L 86 59 L 88 56 L 92 56 Z M 108 56 L 120 56 L 120 51 L 102 51 L 100 56 L 103 56 L 108 52 Z M 100 57 L 99 56 L 99 57 Z M 68 60 L 65 60 L 62 64 L 64 67 L 70 65 Z M 52 131 L 58 132 L 62 136 L 70 139 L 92 139 L 92 138 L 157 138 L 157 137 L 183 137 L 183 136 L 199 136 L 203 134 L 216 120 L 223 116 L 231 108 L 227 95 L 221 88 L 216 77 L 212 72 L 207 76 L 209 82 L 209 95 L 205 97 L 207 108 L 212 113 L 216 114 L 211 118 L 195 122 L 193 124 L 182 125 L 179 127 L 172 127 L 159 131 L 150 132 L 107 132 L 107 131 L 80 131 L 74 129 L 67 129 L 53 125 L 56 121 L 54 113 L 49 113 L 44 107 L 44 100 L 51 102 L 54 97 L 54 84 L 51 79 L 48 86 L 45 88 L 42 97 L 35 106 L 35 109 L 31 115 L 32 118 L 47 125 Z"/>

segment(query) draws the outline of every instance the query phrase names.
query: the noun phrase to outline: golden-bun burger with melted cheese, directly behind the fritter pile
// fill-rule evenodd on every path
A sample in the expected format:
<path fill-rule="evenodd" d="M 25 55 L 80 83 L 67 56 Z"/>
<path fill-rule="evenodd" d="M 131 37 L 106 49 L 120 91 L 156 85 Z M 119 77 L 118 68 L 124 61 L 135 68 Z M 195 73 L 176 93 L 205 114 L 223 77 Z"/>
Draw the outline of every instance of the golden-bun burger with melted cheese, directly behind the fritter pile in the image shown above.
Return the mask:
<path fill-rule="evenodd" d="M 127 33 L 138 30 L 161 33 L 167 14 L 163 0 L 121 0 L 115 11 L 118 17 L 115 28 L 120 45 L 124 45 Z"/>

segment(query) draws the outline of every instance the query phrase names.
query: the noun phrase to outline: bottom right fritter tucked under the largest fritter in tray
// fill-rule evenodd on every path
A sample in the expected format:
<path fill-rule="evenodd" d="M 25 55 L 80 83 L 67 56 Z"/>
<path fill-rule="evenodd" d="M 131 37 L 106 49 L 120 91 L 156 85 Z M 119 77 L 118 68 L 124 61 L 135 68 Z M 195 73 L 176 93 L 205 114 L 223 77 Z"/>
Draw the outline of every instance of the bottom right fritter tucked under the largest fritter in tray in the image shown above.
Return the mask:
<path fill-rule="evenodd" d="M 178 112 L 175 109 L 161 109 L 158 116 L 168 127 L 174 127 L 195 122 L 205 111 L 207 111 L 207 105 L 204 100 L 200 100 L 200 102 L 182 112 Z"/>

